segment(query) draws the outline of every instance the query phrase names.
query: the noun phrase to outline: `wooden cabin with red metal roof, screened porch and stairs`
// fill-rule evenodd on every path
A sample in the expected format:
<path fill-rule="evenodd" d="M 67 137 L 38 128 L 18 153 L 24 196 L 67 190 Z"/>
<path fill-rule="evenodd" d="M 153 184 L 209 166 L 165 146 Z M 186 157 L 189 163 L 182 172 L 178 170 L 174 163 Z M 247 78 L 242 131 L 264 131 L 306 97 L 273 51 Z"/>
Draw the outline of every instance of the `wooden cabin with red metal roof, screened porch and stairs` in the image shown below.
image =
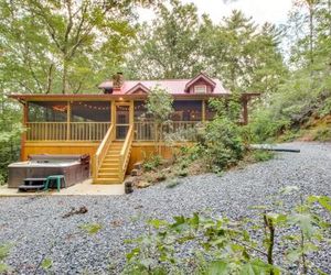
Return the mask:
<path fill-rule="evenodd" d="M 186 131 L 214 117 L 210 98 L 226 98 L 231 92 L 218 79 L 201 73 L 192 79 L 124 80 L 118 73 L 102 82 L 99 94 L 22 94 L 10 98 L 23 105 L 21 161 L 32 154 L 88 154 L 94 184 L 122 183 L 132 165 L 156 152 L 154 123 L 145 101 L 159 85 L 173 97 L 174 112 L 167 133 Z M 247 102 L 258 94 L 243 94 L 241 123 L 248 123 Z M 183 131 L 184 132 L 184 131 Z M 179 144 L 180 145 L 180 144 Z M 171 151 L 163 146 L 163 157 Z"/>

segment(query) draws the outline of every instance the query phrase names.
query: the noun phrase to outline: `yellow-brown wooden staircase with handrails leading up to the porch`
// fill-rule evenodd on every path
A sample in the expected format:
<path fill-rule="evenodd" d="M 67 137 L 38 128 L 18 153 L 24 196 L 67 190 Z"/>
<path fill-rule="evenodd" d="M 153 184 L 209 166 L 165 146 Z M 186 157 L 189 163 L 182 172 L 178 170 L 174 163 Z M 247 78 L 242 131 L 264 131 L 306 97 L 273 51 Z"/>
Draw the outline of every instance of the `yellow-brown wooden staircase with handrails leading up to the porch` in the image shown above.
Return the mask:
<path fill-rule="evenodd" d="M 131 154 L 134 127 L 130 127 L 125 141 L 115 140 L 115 130 L 109 128 L 100 143 L 93 165 L 94 184 L 121 184 Z"/>

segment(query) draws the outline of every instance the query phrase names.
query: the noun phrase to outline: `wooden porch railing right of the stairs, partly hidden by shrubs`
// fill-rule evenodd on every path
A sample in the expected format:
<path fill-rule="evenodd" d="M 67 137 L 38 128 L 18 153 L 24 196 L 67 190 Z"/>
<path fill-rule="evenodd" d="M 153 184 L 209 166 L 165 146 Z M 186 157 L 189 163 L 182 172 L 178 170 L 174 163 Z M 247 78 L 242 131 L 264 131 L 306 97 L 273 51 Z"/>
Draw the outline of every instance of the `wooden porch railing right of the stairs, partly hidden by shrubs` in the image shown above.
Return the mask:
<path fill-rule="evenodd" d="M 200 121 L 171 121 L 163 125 L 162 140 L 167 136 L 178 140 L 195 141 L 197 127 L 201 125 Z M 135 122 L 135 140 L 136 141 L 153 141 L 156 139 L 156 124 L 153 121 Z"/>

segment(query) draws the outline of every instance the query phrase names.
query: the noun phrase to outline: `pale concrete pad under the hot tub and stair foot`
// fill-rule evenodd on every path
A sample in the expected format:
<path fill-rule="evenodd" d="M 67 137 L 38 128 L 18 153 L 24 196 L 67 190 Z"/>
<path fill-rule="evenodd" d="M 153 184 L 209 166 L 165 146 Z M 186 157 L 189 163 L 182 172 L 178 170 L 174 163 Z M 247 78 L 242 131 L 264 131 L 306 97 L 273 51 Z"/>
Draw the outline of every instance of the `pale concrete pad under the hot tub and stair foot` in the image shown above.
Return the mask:
<path fill-rule="evenodd" d="M 111 196 L 124 195 L 125 185 L 93 185 L 92 179 L 84 180 L 68 188 L 55 189 L 50 191 L 19 193 L 17 188 L 8 188 L 7 185 L 0 186 L 0 197 L 29 197 L 29 196 Z"/>

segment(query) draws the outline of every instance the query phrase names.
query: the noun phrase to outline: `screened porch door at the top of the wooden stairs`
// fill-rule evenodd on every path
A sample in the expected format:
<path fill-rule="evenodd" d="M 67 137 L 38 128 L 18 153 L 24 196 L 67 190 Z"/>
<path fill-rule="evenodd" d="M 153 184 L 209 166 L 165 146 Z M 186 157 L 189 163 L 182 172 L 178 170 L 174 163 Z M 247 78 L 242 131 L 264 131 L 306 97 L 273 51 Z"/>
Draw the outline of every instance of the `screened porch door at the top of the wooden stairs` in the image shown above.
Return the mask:
<path fill-rule="evenodd" d="M 130 125 L 130 105 L 116 105 L 116 140 L 125 140 Z"/>

